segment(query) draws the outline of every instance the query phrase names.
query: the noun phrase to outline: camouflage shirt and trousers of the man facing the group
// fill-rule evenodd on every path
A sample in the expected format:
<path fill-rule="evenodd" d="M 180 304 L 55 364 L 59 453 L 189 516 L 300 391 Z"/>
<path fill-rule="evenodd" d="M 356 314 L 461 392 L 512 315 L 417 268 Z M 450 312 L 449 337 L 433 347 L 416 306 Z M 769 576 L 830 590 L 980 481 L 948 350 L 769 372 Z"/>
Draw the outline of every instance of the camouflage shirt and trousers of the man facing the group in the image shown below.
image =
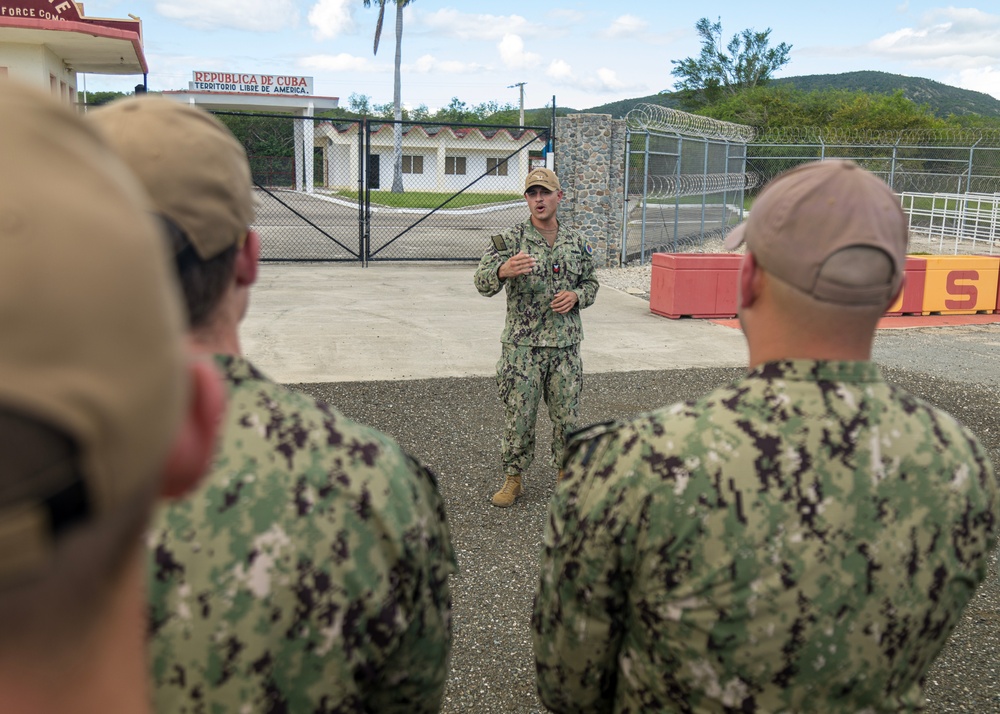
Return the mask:
<path fill-rule="evenodd" d="M 505 474 L 520 474 L 535 455 L 535 418 L 544 399 L 552 421 L 552 464 L 562 464 L 566 433 L 576 423 L 583 389 L 580 310 L 597 296 L 592 248 L 576 231 L 559 228 L 552 247 L 531 221 L 500 236 L 506 250 L 491 247 L 476 270 L 476 289 L 493 297 L 507 289 L 507 322 L 500 341 L 497 386 L 504 403 L 501 460 Z M 518 251 L 536 261 L 534 270 L 500 280 L 500 266 Z M 579 302 L 565 315 L 549 303 L 560 290 L 572 290 Z"/>

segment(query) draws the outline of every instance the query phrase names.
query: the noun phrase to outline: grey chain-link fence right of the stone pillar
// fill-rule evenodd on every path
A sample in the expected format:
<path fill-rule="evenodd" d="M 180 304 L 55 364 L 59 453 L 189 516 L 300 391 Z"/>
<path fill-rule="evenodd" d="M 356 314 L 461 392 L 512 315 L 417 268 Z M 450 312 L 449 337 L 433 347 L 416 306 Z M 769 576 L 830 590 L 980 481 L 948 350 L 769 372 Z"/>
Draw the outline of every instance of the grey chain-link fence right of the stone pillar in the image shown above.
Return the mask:
<path fill-rule="evenodd" d="M 900 194 L 930 252 L 993 252 L 1000 239 L 1000 132 L 750 127 L 640 105 L 627 117 L 627 251 L 720 250 L 760 189 L 798 164 L 850 159 Z"/>

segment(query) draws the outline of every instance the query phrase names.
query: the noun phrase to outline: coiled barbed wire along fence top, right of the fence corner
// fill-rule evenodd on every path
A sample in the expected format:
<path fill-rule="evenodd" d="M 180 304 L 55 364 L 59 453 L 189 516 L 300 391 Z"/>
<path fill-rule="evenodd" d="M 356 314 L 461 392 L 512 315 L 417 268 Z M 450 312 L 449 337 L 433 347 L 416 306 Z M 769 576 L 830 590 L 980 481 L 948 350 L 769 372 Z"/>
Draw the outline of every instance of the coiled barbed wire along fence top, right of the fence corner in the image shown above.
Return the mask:
<path fill-rule="evenodd" d="M 755 144 L 846 144 L 861 146 L 1000 146 L 1000 129 L 910 129 L 877 131 L 817 126 L 775 127 L 756 136 Z"/>

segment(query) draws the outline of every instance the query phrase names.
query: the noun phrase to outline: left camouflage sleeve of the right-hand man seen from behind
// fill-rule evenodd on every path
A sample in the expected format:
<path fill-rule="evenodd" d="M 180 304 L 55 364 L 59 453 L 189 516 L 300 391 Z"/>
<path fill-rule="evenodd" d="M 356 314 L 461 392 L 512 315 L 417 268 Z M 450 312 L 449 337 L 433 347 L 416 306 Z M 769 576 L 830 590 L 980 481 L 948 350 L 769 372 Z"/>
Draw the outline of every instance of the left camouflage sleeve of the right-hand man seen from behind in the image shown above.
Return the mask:
<path fill-rule="evenodd" d="M 574 437 L 550 504 L 532 626 L 538 692 L 554 712 L 610 712 L 614 704 L 646 508 L 637 485 L 607 478 L 633 467 L 628 431 L 599 426 Z"/>

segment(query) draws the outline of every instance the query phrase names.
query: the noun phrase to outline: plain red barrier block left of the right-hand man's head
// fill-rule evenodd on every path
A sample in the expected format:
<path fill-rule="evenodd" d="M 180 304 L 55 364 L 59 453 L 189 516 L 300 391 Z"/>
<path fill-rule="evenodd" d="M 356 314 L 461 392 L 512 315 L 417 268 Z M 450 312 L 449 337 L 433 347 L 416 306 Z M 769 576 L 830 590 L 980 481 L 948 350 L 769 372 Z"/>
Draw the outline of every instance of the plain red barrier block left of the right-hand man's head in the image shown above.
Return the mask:
<path fill-rule="evenodd" d="M 664 317 L 734 317 L 743 256 L 653 253 L 649 309 Z"/>

